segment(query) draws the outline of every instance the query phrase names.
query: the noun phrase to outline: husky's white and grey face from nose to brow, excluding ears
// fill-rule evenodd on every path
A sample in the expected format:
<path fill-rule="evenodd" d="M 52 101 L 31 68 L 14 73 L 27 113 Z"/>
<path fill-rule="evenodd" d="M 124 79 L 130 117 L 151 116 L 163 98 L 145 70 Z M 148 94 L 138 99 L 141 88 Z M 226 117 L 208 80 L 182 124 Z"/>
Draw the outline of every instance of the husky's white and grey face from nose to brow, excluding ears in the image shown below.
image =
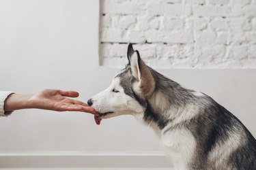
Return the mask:
<path fill-rule="evenodd" d="M 91 98 L 91 107 L 99 112 L 98 118 L 143 113 L 145 108 L 137 101 L 131 80 L 132 75 L 127 67 L 115 76 L 108 88 Z"/>

